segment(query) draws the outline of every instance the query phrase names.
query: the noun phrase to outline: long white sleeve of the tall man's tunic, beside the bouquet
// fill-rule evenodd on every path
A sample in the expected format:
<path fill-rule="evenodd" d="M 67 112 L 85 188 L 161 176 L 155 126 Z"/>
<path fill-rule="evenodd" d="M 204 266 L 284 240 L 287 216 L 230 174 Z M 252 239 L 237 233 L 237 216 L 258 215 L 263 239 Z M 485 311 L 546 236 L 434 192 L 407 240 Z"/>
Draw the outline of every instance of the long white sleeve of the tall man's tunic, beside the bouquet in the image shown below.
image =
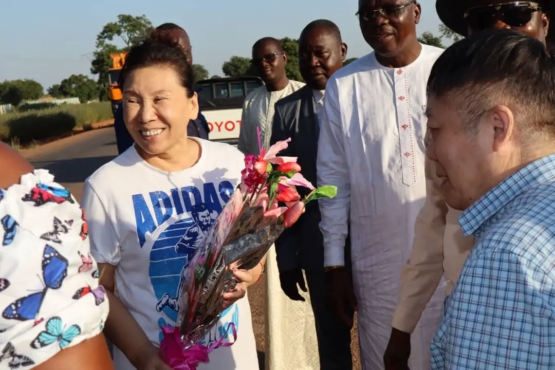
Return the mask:
<path fill-rule="evenodd" d="M 342 131 L 337 86 L 335 80 L 331 79 L 327 83 L 324 97 L 316 160 L 318 186 L 337 186 L 337 195 L 334 198 L 319 199 L 325 267 L 345 265 L 344 248 L 349 228 L 351 188 L 344 151 L 345 135 Z"/>

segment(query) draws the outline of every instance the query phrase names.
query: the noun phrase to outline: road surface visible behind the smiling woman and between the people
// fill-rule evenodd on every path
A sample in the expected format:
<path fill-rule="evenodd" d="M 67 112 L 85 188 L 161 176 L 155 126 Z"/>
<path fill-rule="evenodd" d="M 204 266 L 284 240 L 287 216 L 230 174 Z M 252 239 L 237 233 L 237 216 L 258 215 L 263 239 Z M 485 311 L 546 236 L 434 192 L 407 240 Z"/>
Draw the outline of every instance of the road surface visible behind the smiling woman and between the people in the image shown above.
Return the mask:
<path fill-rule="evenodd" d="M 67 187 L 80 201 L 83 195 L 83 182 L 100 166 L 115 158 L 118 149 L 113 126 L 87 131 L 69 138 L 60 139 L 38 148 L 23 150 L 36 169 L 47 169 L 57 183 Z M 260 369 L 264 369 L 264 313 L 266 311 L 265 279 L 249 288 L 249 302 L 253 318 L 256 349 L 259 354 Z M 354 349 L 354 368 L 360 368 L 358 358 L 358 337 L 352 338 Z"/>

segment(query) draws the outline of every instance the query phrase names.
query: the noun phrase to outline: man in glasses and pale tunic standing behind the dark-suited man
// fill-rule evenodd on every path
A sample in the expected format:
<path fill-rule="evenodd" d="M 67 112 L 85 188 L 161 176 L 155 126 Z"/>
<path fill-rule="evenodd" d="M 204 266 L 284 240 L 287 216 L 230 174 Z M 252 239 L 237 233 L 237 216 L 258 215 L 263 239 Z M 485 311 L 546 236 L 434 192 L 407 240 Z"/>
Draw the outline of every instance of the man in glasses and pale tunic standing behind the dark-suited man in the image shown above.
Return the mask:
<path fill-rule="evenodd" d="M 274 104 L 305 85 L 287 78 L 287 60 L 287 53 L 283 51 L 278 39 L 265 37 L 253 46 L 252 63 L 265 85 L 251 92 L 243 103 L 237 149 L 244 154 L 258 155 L 259 142 L 263 148 L 269 148 Z M 260 129 L 260 138 L 257 128 Z"/>

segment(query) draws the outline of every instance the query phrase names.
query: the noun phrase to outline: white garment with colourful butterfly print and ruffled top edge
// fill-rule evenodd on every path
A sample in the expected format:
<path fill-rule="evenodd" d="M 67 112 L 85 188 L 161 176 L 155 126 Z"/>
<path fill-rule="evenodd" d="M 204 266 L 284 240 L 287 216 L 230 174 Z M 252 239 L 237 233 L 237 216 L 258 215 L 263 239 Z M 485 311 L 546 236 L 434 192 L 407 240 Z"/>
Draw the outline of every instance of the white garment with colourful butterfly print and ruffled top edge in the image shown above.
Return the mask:
<path fill-rule="evenodd" d="M 46 170 L 0 190 L 0 370 L 36 367 L 102 331 L 108 299 L 84 230 Z"/>

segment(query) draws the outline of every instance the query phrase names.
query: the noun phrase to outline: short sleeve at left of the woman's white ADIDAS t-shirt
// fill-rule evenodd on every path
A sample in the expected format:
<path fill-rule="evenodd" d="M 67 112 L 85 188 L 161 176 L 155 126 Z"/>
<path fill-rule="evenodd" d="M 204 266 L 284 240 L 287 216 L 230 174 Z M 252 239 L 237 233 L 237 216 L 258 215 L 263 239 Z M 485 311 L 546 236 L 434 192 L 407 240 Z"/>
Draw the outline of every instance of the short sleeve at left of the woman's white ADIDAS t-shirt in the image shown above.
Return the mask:
<path fill-rule="evenodd" d="M 87 216 L 90 254 L 97 262 L 118 265 L 122 257 L 118 237 L 102 200 L 89 180 L 84 184 L 82 205 Z"/>

